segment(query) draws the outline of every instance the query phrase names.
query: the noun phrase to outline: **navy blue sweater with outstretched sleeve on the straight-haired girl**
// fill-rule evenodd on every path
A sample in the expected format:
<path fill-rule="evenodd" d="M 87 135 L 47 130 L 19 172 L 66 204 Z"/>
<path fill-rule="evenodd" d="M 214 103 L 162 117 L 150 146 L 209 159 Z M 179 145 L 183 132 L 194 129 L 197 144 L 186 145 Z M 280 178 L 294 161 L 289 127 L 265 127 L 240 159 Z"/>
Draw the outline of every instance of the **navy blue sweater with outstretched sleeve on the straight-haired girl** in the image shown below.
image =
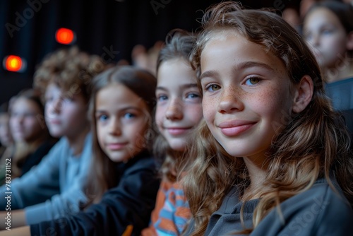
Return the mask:
<path fill-rule="evenodd" d="M 119 163 L 116 171 L 119 184 L 100 203 L 72 216 L 30 225 L 31 235 L 123 235 L 131 229 L 128 225 L 131 235 L 140 235 L 148 226 L 160 185 L 155 160 L 144 153 Z"/>

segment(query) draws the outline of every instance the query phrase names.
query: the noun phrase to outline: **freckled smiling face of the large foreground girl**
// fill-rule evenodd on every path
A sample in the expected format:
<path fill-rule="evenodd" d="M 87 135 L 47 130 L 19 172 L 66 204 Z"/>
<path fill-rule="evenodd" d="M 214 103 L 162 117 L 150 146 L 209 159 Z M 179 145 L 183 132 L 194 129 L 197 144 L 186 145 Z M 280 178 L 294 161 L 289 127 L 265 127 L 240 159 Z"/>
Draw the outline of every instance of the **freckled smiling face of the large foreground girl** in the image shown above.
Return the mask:
<path fill-rule="evenodd" d="M 261 45 L 224 33 L 205 45 L 201 73 L 203 114 L 213 136 L 234 157 L 263 160 L 292 113 L 292 85 L 282 61 Z"/>

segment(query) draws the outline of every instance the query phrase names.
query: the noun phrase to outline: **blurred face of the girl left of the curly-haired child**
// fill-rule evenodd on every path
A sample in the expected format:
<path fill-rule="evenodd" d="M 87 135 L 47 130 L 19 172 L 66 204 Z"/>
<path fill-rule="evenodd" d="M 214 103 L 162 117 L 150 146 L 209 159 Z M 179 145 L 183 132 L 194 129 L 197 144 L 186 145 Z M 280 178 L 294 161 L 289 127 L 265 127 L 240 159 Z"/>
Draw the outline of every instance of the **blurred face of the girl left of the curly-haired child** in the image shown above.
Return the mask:
<path fill-rule="evenodd" d="M 17 98 L 11 107 L 10 127 L 15 141 L 35 141 L 46 126 L 38 105 L 27 98 Z"/>

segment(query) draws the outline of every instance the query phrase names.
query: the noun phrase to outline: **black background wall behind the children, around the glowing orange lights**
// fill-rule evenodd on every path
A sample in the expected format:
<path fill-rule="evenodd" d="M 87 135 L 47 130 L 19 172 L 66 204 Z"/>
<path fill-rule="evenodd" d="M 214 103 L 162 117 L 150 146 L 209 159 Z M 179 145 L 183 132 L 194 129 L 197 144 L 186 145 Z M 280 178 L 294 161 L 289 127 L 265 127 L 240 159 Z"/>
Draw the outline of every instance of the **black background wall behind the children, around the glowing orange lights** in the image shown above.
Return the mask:
<path fill-rule="evenodd" d="M 28 62 L 21 73 L 0 68 L 0 103 L 32 85 L 44 55 L 67 47 L 56 42 L 58 28 L 76 33 L 78 47 L 105 59 L 131 61 L 131 49 L 149 48 L 173 28 L 196 31 L 198 19 L 220 1 L 187 0 L 0 0 L 0 59 L 16 54 Z M 249 8 L 297 5 L 294 0 L 241 1 Z M 112 57 L 107 51 L 114 51 Z"/>

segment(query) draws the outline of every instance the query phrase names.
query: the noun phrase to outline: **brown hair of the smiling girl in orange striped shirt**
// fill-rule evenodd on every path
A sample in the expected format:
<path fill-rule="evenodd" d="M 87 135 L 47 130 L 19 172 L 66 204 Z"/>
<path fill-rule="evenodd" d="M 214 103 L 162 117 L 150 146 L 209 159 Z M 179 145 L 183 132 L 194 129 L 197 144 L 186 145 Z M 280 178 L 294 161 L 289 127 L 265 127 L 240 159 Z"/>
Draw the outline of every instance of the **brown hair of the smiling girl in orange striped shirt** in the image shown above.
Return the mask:
<path fill-rule="evenodd" d="M 192 33 L 181 29 L 170 31 L 167 34 L 165 46 L 158 54 L 157 71 L 164 61 L 184 59 L 186 62 L 189 62 L 195 42 L 196 37 Z M 153 152 L 157 160 L 162 163 L 162 167 L 160 168 L 162 178 L 167 179 L 169 182 L 177 181 L 177 173 L 179 172 L 182 159 L 184 159 L 184 152 L 174 151 L 170 148 L 167 140 L 160 133 L 158 133 L 155 139 Z"/>

